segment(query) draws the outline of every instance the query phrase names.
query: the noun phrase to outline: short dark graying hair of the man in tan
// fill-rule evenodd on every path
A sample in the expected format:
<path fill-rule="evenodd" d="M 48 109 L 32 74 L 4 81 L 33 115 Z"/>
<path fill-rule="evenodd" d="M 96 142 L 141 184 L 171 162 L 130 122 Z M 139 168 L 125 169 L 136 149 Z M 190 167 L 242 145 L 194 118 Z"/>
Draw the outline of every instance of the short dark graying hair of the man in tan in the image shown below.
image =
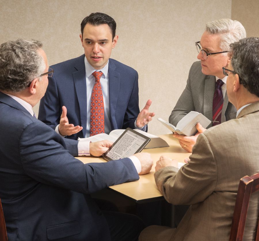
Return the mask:
<path fill-rule="evenodd" d="M 259 38 L 243 38 L 230 44 L 230 56 L 240 84 L 259 97 Z"/>

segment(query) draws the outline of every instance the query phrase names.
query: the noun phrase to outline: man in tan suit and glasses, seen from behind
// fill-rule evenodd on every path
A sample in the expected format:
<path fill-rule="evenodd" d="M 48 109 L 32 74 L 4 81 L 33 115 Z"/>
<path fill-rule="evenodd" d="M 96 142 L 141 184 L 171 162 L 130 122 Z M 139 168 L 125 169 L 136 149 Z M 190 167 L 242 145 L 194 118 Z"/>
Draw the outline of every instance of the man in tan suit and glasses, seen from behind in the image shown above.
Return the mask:
<path fill-rule="evenodd" d="M 239 180 L 259 172 L 259 38 L 244 38 L 230 45 L 229 101 L 237 119 L 199 135 L 188 164 L 160 157 L 155 181 L 174 205 L 191 205 L 176 229 L 150 226 L 139 240 L 228 240 Z M 243 240 L 253 240 L 258 215 L 258 194 L 250 201 Z"/>

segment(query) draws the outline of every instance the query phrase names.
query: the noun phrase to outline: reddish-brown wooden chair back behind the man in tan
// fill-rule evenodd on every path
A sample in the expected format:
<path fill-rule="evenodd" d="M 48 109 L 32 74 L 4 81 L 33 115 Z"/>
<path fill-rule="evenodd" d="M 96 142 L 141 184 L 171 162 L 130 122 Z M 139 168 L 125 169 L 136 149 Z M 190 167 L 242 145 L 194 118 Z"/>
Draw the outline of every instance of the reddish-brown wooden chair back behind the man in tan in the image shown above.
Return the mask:
<path fill-rule="evenodd" d="M 259 190 L 259 173 L 253 176 L 245 176 L 240 179 L 237 199 L 232 219 L 230 241 L 243 240 L 243 234 L 245 229 L 245 220 L 247 216 L 247 210 L 249 205 L 250 196 L 252 193 Z M 258 219 L 257 219 L 258 222 Z M 259 223 L 257 223 L 256 241 L 259 241 Z"/>

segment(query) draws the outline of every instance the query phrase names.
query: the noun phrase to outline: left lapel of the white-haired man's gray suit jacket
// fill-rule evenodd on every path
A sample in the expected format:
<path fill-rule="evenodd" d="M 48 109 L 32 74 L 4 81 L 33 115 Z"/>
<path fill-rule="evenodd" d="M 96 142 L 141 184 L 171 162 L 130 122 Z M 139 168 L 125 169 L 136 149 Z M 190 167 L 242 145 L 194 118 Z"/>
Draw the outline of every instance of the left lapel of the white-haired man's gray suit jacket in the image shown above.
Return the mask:
<path fill-rule="evenodd" d="M 203 113 L 204 115 L 212 120 L 212 103 L 213 103 L 213 96 L 216 89 L 216 78 L 215 76 L 208 76 L 205 79 L 205 86 L 204 86 L 204 99 L 203 99 Z M 212 123 L 208 126 L 211 127 Z"/>

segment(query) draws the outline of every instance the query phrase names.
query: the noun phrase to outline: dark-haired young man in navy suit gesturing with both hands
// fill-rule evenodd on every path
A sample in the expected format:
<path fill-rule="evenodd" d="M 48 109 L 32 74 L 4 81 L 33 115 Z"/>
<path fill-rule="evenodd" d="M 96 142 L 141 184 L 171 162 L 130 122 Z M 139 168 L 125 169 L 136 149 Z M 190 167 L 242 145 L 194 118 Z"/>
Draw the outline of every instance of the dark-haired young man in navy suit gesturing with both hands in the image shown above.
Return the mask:
<path fill-rule="evenodd" d="M 95 84 L 92 75 L 102 72 L 100 84 L 104 102 L 104 132 L 140 129 L 155 113 L 149 112 L 151 100 L 142 111 L 138 104 L 138 73 L 114 59 L 116 22 L 103 13 L 92 13 L 81 23 L 80 39 L 85 53 L 75 59 L 51 66 L 55 70 L 41 99 L 38 118 L 67 138 L 89 137 L 91 95 Z"/>

